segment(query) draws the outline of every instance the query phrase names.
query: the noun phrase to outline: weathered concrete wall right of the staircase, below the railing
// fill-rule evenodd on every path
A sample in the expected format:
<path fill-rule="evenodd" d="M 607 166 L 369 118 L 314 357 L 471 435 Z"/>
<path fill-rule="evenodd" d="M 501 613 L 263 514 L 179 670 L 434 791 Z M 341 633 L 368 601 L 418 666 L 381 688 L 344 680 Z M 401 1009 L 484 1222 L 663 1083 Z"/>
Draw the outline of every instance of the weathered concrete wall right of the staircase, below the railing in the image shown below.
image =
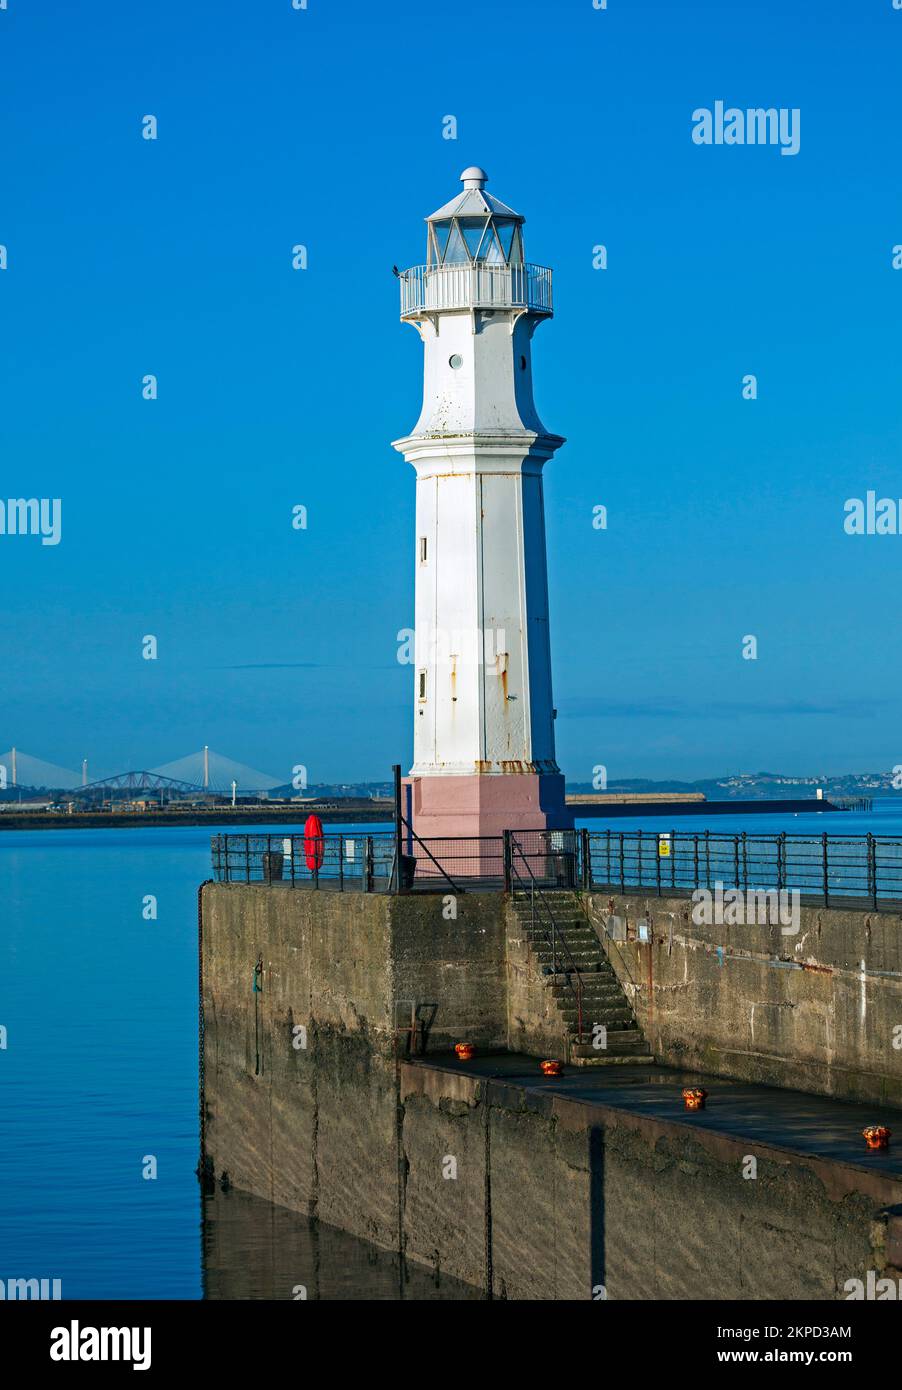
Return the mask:
<path fill-rule="evenodd" d="M 802 908 L 773 926 L 696 926 L 688 898 L 588 898 L 659 1061 L 902 1106 L 902 916 Z M 649 923 L 649 942 L 635 940 Z M 896 1047 L 894 1047 L 894 1036 Z"/>

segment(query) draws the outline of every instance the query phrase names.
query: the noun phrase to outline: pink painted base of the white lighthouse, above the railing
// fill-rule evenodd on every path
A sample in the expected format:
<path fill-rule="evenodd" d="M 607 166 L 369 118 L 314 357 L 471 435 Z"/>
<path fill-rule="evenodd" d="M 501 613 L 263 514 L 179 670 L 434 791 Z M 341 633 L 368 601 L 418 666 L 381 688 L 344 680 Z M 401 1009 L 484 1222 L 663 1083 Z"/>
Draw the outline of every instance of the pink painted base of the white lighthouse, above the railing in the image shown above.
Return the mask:
<path fill-rule="evenodd" d="M 573 827 L 561 773 L 409 777 L 404 802 L 404 813 L 423 840 Z"/>

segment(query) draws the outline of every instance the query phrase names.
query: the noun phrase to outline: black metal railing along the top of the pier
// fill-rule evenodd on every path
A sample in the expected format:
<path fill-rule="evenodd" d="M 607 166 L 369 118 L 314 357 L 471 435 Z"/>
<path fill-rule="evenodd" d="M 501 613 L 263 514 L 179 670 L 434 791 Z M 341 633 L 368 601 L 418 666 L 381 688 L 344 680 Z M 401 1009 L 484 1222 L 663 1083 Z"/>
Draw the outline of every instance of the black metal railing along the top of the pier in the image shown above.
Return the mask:
<path fill-rule="evenodd" d="M 530 877 L 542 888 L 664 897 L 723 884 L 796 891 L 826 905 L 902 906 L 902 840 L 884 835 L 542 830 L 406 837 L 397 865 L 392 833 L 324 834 L 315 845 L 303 835 L 229 834 L 213 837 L 213 872 L 222 883 L 352 892 L 510 890 Z"/>

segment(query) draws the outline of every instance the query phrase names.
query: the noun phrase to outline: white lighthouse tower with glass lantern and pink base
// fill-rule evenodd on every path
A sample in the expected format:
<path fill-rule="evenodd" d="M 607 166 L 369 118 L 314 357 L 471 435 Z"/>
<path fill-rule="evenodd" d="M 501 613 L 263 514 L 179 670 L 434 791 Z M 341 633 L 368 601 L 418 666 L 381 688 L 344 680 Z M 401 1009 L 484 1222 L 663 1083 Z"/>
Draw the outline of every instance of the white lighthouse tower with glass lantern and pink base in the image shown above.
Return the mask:
<path fill-rule="evenodd" d="M 552 272 L 524 218 L 468 168 L 400 277 L 425 349 L 423 411 L 393 448 L 417 470 L 414 764 L 423 837 L 573 824 L 555 760 L 542 468 L 564 442 L 532 400 Z"/>

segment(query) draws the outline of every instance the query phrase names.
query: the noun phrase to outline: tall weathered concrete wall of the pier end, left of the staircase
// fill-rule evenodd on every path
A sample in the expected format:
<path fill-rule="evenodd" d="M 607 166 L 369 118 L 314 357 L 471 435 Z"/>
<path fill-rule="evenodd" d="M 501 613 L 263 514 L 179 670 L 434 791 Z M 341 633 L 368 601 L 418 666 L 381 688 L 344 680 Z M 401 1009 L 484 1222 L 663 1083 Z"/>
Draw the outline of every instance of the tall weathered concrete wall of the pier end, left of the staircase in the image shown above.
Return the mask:
<path fill-rule="evenodd" d="M 502 898 L 460 898 L 456 920 L 441 903 L 206 885 L 204 1145 L 217 1176 L 396 1245 L 395 1005 L 403 1023 L 404 1001 L 427 1016 L 435 1004 L 434 1047 L 506 1042 Z"/>

